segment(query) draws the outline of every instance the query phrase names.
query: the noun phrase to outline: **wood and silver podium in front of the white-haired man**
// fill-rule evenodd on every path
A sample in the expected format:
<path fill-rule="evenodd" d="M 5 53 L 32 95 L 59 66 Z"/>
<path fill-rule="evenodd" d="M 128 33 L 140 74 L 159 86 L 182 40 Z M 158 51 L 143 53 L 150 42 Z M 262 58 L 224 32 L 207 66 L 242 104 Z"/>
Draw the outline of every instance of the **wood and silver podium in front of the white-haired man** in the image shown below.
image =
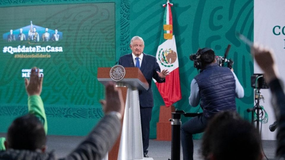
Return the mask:
<path fill-rule="evenodd" d="M 110 76 L 111 67 L 98 68 L 97 79 L 104 85 L 109 81 L 115 81 Z M 148 82 L 139 68 L 126 67 L 124 78 L 115 81 L 116 87 L 122 91 L 125 112 L 122 115 L 121 135 L 108 153 L 108 160 L 139 160 L 143 157 L 143 142 L 140 123 L 140 103 L 138 89 L 147 90 Z"/>

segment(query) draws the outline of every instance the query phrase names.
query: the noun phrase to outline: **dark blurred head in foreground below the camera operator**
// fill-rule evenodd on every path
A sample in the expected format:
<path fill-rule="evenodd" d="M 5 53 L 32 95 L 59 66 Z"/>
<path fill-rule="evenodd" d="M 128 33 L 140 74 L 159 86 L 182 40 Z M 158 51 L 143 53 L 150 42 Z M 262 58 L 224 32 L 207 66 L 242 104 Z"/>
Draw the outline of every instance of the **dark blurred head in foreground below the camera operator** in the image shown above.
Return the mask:
<path fill-rule="evenodd" d="M 202 156 L 205 160 L 261 160 L 259 133 L 238 113 L 218 113 L 203 135 Z"/>

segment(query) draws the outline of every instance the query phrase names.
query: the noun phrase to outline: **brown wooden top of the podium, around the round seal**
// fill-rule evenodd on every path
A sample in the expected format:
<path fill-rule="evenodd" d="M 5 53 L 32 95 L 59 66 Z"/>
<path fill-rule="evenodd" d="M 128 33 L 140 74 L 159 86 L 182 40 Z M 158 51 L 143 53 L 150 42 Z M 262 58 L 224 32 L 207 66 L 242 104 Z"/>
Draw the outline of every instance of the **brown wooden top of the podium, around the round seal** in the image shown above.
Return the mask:
<path fill-rule="evenodd" d="M 114 81 L 110 77 L 111 67 L 99 67 L 97 72 L 97 79 L 104 85 L 107 85 L 109 81 Z M 116 83 L 129 84 L 132 87 L 137 87 L 140 90 L 148 90 L 148 81 L 146 81 L 143 73 L 136 67 L 125 67 L 125 77 Z"/>

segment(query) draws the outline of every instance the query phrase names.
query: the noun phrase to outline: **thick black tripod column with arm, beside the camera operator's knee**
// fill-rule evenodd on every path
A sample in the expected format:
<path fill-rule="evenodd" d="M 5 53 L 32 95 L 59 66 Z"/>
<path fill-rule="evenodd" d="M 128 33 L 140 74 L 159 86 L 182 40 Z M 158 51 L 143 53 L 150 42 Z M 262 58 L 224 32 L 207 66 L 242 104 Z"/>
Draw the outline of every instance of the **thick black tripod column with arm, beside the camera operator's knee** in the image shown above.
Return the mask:
<path fill-rule="evenodd" d="M 195 117 L 201 115 L 202 113 L 185 113 L 182 110 L 175 110 L 172 112 L 172 119 L 171 121 L 171 160 L 180 160 L 180 127 L 181 127 L 181 115 L 185 117 Z"/>

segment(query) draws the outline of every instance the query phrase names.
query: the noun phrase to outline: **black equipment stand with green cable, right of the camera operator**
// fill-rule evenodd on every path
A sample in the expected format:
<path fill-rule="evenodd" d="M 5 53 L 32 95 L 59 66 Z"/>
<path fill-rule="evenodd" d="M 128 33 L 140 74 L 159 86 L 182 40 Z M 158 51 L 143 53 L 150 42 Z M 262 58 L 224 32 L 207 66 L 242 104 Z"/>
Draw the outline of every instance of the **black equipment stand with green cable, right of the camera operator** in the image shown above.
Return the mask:
<path fill-rule="evenodd" d="M 246 111 L 251 112 L 251 124 L 254 125 L 254 122 L 256 122 L 256 128 L 259 130 L 259 114 L 260 110 L 262 109 L 259 105 L 260 100 L 264 100 L 263 95 L 261 95 L 260 89 L 255 89 L 254 91 L 254 100 L 256 102 L 256 105 L 253 108 L 248 108 Z M 254 120 L 254 112 L 257 114 L 257 119 Z"/>

